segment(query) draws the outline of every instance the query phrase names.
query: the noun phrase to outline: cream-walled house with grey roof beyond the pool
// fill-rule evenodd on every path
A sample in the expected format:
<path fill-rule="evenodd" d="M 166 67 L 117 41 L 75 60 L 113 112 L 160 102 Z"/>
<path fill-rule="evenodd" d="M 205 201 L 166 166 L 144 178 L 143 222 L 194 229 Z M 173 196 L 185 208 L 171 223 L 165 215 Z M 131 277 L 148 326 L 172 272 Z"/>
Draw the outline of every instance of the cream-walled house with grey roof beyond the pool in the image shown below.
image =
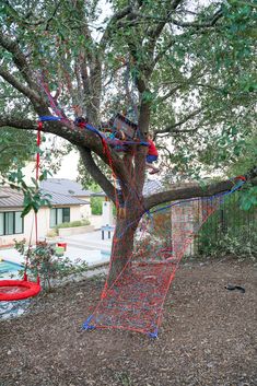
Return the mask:
<path fill-rule="evenodd" d="M 71 182 L 72 183 L 72 182 Z M 49 194 L 51 207 L 42 207 L 37 213 L 37 239 L 45 238 L 48 232 L 56 225 L 63 222 L 71 222 L 82 219 L 82 213 L 90 213 L 90 201 L 80 197 L 89 197 L 87 192 L 81 190 L 74 190 L 74 185 L 71 184 L 69 194 L 63 188 L 62 184 L 56 184 L 58 189 L 56 191 L 52 187 L 54 182 L 47 185 L 48 189 L 42 190 L 45 194 Z M 61 191 L 62 186 L 62 191 Z M 65 184 L 68 186 L 68 183 Z M 71 189 L 71 186 L 73 189 Z M 77 194 L 79 192 L 78 197 Z M 86 195 L 85 195 L 86 192 Z M 87 207 L 85 209 L 85 207 Z M 81 208 L 83 210 L 81 211 Z M 21 218 L 23 210 L 23 195 L 10 187 L 0 187 L 0 247 L 9 246 L 14 244 L 14 238 L 21 241 L 26 238 L 30 244 L 34 244 L 36 241 L 36 226 L 35 226 L 35 214 L 31 211 L 25 218 Z"/>

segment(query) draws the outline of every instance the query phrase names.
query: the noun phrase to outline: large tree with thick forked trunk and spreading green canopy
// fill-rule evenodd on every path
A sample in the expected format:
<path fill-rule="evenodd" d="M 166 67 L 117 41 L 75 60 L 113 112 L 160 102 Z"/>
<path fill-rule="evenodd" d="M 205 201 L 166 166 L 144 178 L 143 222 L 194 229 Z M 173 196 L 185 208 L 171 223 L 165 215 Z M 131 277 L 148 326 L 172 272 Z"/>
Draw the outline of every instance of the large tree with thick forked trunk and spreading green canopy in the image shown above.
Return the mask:
<path fill-rule="evenodd" d="M 233 182 L 205 189 L 170 187 L 143 198 L 147 147 L 133 144 L 124 155 L 112 147 L 106 150 L 95 132 L 81 130 L 69 119 L 70 106 L 80 105 L 94 127 L 114 109 L 132 107 L 138 112 L 138 139 L 145 141 L 153 125 L 155 137 L 173 139 L 179 157 L 175 154 L 172 161 L 178 164 L 183 160 L 184 165 L 198 167 L 194 154 L 208 163 L 210 126 L 214 127 L 213 154 L 224 150 L 224 139 L 234 152 L 245 132 L 244 118 L 247 136 L 253 133 L 249 110 L 256 89 L 253 65 L 248 65 L 254 55 L 256 7 L 253 1 L 237 0 L 202 4 L 114 0 L 107 4 L 109 15 L 103 19 L 100 1 L 4 1 L 2 86 L 26 101 L 27 113 L 15 114 L 15 101 L 7 98 L 0 127 L 35 130 L 37 116 L 59 115 L 62 119 L 44 122 L 43 131 L 75 145 L 84 167 L 118 207 L 115 186 L 94 157 L 112 168 L 128 208 L 126 213 L 118 211 L 116 232 L 122 236 L 113 248 L 112 280 L 131 254 L 145 211 L 170 200 L 211 196 L 230 189 Z M 247 178 L 256 175 L 253 167 Z"/>

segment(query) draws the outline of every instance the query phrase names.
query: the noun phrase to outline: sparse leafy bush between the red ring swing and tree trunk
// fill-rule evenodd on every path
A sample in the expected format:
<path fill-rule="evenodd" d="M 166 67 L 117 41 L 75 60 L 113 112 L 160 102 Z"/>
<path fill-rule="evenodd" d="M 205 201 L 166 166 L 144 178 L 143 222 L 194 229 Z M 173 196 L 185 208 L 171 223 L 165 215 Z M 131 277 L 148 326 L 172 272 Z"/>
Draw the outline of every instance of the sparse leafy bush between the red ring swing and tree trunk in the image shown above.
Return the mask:
<path fill-rule="evenodd" d="M 26 248 L 25 239 L 15 241 L 15 249 L 24 257 L 28 274 L 34 279 L 39 276 L 45 290 L 51 289 L 54 279 L 61 281 L 70 274 L 80 274 L 89 269 L 84 261 L 77 261 L 74 265 L 69 258 L 58 257 L 56 246 L 46 242 L 39 242 L 36 247 Z"/>

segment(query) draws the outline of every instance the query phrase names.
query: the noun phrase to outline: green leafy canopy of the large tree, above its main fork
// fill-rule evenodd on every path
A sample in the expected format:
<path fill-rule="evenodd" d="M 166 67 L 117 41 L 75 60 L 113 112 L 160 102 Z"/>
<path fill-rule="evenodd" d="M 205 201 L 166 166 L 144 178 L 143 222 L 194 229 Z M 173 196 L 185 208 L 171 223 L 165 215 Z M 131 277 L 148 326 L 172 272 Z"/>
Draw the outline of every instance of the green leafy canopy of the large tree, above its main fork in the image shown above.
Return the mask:
<path fill-rule="evenodd" d="M 234 173 L 243 155 L 253 165 L 255 2 L 106 4 L 106 16 L 101 1 L 2 5 L 4 33 L 16 37 L 28 60 L 31 89 L 48 105 L 49 89 L 69 117 L 79 104 L 95 125 L 129 108 L 137 117 L 138 107 L 149 106 L 164 169 L 172 169 L 170 182 L 180 174 Z M 17 80 L 22 74 L 10 50 L 1 54 L 2 86 L 13 93 L 4 109 L 12 114 L 19 97 L 27 98 L 8 86 L 5 72 Z M 26 108 L 35 116 L 30 102 Z"/>

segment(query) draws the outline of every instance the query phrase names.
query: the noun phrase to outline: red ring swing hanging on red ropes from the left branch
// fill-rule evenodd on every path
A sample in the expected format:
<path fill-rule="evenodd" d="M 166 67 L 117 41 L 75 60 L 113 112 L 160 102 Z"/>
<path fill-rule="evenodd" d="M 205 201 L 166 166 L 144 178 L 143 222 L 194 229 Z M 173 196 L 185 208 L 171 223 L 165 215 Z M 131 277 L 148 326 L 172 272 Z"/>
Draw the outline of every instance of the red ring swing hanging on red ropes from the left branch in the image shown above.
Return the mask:
<path fill-rule="evenodd" d="M 43 122 L 38 121 L 37 128 L 37 147 L 40 145 L 40 130 L 43 128 Z M 39 172 L 39 153 L 36 154 L 36 180 L 38 180 Z M 36 226 L 36 241 L 37 241 L 37 218 L 35 213 L 35 226 Z M 28 281 L 27 279 L 27 262 L 25 265 L 25 271 L 23 280 L 0 280 L 0 302 L 14 302 L 21 301 L 27 297 L 36 296 L 40 290 L 40 281 L 37 276 L 37 281 Z"/>

